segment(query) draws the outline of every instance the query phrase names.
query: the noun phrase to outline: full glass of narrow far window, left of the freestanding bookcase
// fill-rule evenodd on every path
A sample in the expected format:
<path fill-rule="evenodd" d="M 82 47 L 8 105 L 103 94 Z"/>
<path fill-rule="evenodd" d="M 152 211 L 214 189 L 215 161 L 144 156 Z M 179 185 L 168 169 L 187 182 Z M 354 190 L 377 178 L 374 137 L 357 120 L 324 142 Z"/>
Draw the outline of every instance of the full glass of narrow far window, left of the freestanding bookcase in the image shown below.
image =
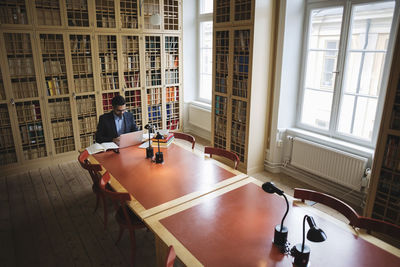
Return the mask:
<path fill-rule="evenodd" d="M 199 92 L 201 101 L 211 102 L 212 96 L 212 39 L 213 0 L 201 0 L 199 28 Z"/>

